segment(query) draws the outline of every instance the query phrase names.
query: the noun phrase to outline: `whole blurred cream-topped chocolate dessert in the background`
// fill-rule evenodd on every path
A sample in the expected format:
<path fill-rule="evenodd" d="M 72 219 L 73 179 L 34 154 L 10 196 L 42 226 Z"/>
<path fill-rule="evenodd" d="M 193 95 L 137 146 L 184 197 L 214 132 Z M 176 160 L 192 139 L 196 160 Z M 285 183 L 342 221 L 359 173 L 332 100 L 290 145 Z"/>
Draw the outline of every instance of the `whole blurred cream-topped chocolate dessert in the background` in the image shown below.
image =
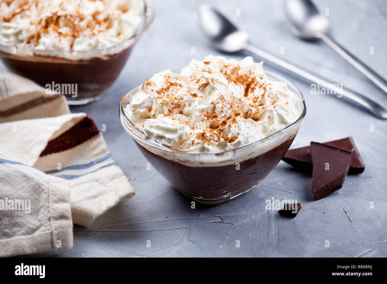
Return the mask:
<path fill-rule="evenodd" d="M 50 91 L 59 86 L 74 104 L 96 100 L 125 65 L 137 41 L 128 39 L 145 10 L 144 0 L 6 1 L 0 9 L 1 60 Z"/>

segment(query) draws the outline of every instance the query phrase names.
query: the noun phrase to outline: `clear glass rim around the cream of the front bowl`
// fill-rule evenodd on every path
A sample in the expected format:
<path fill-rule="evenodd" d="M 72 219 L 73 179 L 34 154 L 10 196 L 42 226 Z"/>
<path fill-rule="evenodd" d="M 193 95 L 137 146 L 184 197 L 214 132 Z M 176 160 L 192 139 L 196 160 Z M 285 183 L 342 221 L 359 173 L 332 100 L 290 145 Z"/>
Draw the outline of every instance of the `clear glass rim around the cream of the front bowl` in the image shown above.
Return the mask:
<path fill-rule="evenodd" d="M 179 72 L 181 70 L 178 69 L 178 70 L 175 70 L 175 71 L 172 71 L 173 73 L 176 73 L 176 72 Z M 160 146 L 154 142 L 152 142 L 152 140 L 154 140 L 153 138 L 147 136 L 141 129 L 137 128 L 135 126 L 135 124 L 130 121 L 130 119 L 128 119 L 128 117 L 126 116 L 125 112 L 124 112 L 124 109 L 123 109 L 123 103 L 125 102 L 125 100 L 127 100 L 127 97 L 129 94 L 132 94 L 132 92 L 138 92 L 139 91 L 139 88 L 141 87 L 141 85 L 133 88 L 132 90 L 130 90 L 129 92 L 127 92 L 127 94 L 125 94 L 121 101 L 120 101 L 120 105 L 119 105 L 119 112 L 120 112 L 120 121 L 121 121 L 121 124 L 123 126 L 123 128 L 125 129 L 125 131 L 129 134 L 130 137 L 132 137 L 136 142 L 137 140 L 132 136 L 132 134 L 134 136 L 136 136 L 136 138 L 138 138 L 142 143 L 146 144 L 147 146 L 150 146 L 151 148 L 157 148 L 158 150 L 162 150 L 164 152 L 168 152 L 168 153 L 178 153 L 178 155 L 190 155 L 190 156 L 219 156 L 219 155 L 227 155 L 229 153 L 232 153 L 233 151 L 237 151 L 237 150 L 240 150 L 242 148 L 247 148 L 247 147 L 250 147 L 254 144 L 258 144 L 258 143 L 264 143 L 266 141 L 268 141 L 269 139 L 272 139 L 272 138 L 275 138 L 277 136 L 279 136 L 281 133 L 284 133 L 286 131 L 286 129 L 290 128 L 291 126 L 297 124 L 298 122 L 301 122 L 304 117 L 305 117 L 305 114 L 307 112 L 307 106 L 305 105 L 305 99 L 304 99 L 304 96 L 303 94 L 301 93 L 301 90 L 295 85 L 295 83 L 293 83 L 291 80 L 283 77 L 282 75 L 279 75 L 278 73 L 276 72 L 266 72 L 266 75 L 267 77 L 269 77 L 269 79 L 275 79 L 277 82 L 284 82 L 286 83 L 286 85 L 288 86 L 289 88 L 289 85 L 291 86 L 291 92 L 295 93 L 296 96 L 298 96 L 299 99 L 301 99 L 301 102 L 302 102 L 302 105 L 303 105 L 303 110 L 300 114 L 300 116 L 291 124 L 289 124 L 288 126 L 286 126 L 285 128 L 281 129 L 280 131 L 277 131 L 276 133 L 273 133 L 271 134 L 270 136 L 267 136 L 263 139 L 260 139 L 258 141 L 254 141 L 250 144 L 247 144 L 247 145 L 243 145 L 239 148 L 236 148 L 236 149 L 232 149 L 232 150 L 228 150 L 228 151 L 224 151 L 224 152 L 219 152 L 219 153 L 194 153 L 194 152 L 188 152 L 188 151 L 180 151 L 180 150 L 173 150 L 172 148 L 167 148 L 167 147 L 164 147 L 164 146 Z M 148 140 L 144 140 L 142 138 L 140 138 L 137 134 L 134 133 L 134 131 L 130 131 L 130 134 L 126 128 L 128 128 L 127 125 L 123 125 L 123 121 L 122 119 L 125 119 L 125 124 L 127 125 L 130 125 L 132 126 L 136 131 L 139 131 L 140 133 L 142 133 L 146 138 L 149 138 Z M 137 142 L 138 143 L 138 142 Z"/>

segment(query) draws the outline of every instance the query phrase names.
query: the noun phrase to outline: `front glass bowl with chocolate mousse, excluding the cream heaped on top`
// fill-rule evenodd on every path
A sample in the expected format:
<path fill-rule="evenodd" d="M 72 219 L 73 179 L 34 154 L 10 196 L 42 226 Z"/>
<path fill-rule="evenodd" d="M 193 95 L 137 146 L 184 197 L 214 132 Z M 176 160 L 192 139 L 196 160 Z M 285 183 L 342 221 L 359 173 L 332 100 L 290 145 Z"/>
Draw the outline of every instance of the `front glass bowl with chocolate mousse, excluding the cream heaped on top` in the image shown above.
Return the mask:
<path fill-rule="evenodd" d="M 305 101 L 296 85 L 275 73 L 267 76 L 288 85 L 302 102 L 301 115 L 281 131 L 231 151 L 212 154 L 178 151 L 146 136 L 124 112 L 140 86 L 122 98 L 120 121 L 148 162 L 175 189 L 197 202 L 220 204 L 247 193 L 271 172 L 288 151 L 305 117 Z"/>

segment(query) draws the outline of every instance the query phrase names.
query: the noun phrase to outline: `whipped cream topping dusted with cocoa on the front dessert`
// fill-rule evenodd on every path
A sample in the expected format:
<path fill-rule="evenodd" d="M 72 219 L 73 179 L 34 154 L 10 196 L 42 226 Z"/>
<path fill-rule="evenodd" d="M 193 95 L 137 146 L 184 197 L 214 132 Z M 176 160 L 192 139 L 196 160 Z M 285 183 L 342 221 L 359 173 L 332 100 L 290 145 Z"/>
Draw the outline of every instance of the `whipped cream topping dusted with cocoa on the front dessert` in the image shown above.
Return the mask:
<path fill-rule="evenodd" d="M 295 122 L 302 111 L 301 100 L 285 83 L 270 80 L 262 62 L 212 55 L 192 60 L 180 74 L 155 74 L 125 108 L 148 136 L 194 153 L 259 141 Z"/>

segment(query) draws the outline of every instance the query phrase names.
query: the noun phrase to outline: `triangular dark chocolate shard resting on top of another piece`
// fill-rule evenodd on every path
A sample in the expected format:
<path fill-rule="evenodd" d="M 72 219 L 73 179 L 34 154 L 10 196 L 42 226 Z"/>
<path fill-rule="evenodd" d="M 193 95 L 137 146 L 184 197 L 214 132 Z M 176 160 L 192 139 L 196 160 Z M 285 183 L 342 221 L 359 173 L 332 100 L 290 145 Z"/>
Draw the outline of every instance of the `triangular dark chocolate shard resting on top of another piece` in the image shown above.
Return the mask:
<path fill-rule="evenodd" d="M 310 142 L 310 150 L 313 162 L 311 192 L 319 200 L 342 187 L 352 153 L 316 142 Z"/>

